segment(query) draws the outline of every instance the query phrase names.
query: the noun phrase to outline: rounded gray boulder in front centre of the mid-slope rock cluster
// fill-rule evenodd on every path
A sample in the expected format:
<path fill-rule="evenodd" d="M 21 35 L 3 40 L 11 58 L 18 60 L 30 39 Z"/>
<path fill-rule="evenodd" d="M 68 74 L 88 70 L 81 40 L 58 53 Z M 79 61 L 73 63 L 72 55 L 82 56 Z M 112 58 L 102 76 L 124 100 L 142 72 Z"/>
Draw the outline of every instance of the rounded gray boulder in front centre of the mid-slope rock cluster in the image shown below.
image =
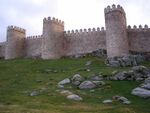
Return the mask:
<path fill-rule="evenodd" d="M 96 87 L 96 85 L 93 83 L 93 82 L 91 82 L 91 81 L 83 81 L 80 85 L 79 85 L 79 88 L 80 89 L 93 89 L 93 88 L 95 88 Z"/>

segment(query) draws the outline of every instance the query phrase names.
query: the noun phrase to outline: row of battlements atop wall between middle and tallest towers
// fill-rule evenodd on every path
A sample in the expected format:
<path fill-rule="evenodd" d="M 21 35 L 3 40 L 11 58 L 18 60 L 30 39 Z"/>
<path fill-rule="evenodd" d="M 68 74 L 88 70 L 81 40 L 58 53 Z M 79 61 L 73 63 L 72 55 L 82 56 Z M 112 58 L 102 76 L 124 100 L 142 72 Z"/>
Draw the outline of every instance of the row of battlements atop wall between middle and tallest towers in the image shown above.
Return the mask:
<path fill-rule="evenodd" d="M 76 35 L 76 34 L 90 34 L 90 33 L 96 33 L 96 32 L 100 32 L 103 33 L 105 32 L 104 27 L 97 27 L 97 28 L 88 28 L 88 29 L 80 29 L 80 30 L 68 30 L 68 31 L 64 31 L 65 35 Z"/>

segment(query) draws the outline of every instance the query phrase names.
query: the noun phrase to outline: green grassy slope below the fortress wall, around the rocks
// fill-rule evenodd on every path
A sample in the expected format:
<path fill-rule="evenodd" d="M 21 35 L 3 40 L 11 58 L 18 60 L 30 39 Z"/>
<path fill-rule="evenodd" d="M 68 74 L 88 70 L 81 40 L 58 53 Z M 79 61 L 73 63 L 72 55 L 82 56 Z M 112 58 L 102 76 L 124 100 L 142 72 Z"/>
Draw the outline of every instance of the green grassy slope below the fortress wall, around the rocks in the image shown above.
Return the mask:
<path fill-rule="evenodd" d="M 92 65 L 85 66 L 87 61 Z M 131 95 L 131 90 L 138 86 L 135 81 L 106 81 L 106 85 L 89 90 L 69 89 L 83 97 L 83 101 L 67 100 L 56 90 L 57 83 L 76 73 L 88 77 L 94 73 L 110 75 L 112 71 L 128 70 L 127 68 L 107 67 L 104 59 L 80 58 L 58 60 L 14 59 L 0 60 L 0 113 L 150 113 L 150 99 L 142 99 Z M 150 67 L 150 62 L 144 65 Z M 91 71 L 87 72 L 85 69 Z M 57 72 L 46 72 L 52 69 Z M 38 96 L 29 96 L 29 92 L 47 88 Z M 132 104 L 119 102 L 102 104 L 104 99 L 114 95 L 127 97 Z"/>

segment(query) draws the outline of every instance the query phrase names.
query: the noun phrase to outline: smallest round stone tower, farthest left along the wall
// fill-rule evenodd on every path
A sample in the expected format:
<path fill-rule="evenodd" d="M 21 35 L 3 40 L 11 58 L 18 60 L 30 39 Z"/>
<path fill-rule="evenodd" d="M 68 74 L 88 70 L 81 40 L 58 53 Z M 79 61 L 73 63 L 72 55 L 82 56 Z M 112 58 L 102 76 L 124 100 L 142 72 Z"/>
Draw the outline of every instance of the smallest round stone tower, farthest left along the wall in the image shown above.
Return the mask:
<path fill-rule="evenodd" d="M 24 56 L 25 37 L 25 29 L 16 26 L 8 26 L 5 59 L 13 59 Z"/>

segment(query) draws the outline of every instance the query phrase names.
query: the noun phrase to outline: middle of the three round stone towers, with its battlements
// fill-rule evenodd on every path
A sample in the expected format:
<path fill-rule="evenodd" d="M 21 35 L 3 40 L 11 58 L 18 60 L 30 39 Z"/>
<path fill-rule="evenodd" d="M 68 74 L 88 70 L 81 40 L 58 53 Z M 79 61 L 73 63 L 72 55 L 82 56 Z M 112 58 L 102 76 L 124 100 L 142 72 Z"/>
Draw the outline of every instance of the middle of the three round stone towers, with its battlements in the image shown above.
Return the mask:
<path fill-rule="evenodd" d="M 64 22 L 50 17 L 43 20 L 42 58 L 55 59 L 63 55 Z"/>

